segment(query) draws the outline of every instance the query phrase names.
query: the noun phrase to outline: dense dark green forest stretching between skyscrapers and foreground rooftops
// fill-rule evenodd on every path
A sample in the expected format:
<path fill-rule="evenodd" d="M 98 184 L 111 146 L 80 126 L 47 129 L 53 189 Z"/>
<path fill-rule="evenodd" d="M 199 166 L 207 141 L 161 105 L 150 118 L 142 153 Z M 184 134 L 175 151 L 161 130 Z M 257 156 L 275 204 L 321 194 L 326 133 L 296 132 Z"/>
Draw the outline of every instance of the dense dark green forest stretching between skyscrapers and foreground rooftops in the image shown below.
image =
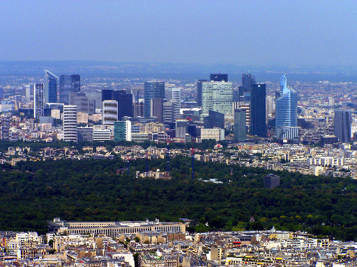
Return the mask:
<path fill-rule="evenodd" d="M 271 171 L 238 165 L 195 162 L 176 156 L 171 180 L 135 179 L 145 160 L 58 160 L 0 165 L 0 229 L 46 232 L 46 221 L 194 219 L 190 231 L 208 229 L 305 230 L 357 240 L 357 181 L 276 172 L 280 186 L 266 189 Z M 149 161 L 166 169 L 166 160 Z M 124 172 L 117 170 L 124 169 Z M 231 175 L 233 170 L 233 175 Z M 202 181 L 217 178 L 223 184 Z M 249 222 L 254 216 L 255 222 Z M 208 223 L 206 227 L 205 223 Z"/>

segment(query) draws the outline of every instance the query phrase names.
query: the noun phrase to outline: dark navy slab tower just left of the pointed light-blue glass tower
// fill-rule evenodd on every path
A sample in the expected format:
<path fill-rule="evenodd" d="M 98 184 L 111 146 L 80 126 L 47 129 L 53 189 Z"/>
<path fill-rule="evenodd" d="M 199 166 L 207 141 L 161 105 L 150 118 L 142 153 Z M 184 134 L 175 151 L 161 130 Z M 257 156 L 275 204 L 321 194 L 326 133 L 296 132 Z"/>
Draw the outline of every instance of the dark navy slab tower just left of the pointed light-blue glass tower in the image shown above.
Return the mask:
<path fill-rule="evenodd" d="M 250 133 L 266 137 L 266 85 L 255 84 L 250 94 Z"/>

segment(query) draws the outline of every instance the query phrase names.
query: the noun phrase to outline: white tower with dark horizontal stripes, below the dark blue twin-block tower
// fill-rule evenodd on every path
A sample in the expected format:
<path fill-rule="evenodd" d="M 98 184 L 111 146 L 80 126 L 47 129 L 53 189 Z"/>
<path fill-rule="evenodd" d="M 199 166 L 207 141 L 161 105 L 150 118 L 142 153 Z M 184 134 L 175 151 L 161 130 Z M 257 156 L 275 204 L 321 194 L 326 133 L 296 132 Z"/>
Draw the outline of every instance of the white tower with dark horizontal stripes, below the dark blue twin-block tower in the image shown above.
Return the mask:
<path fill-rule="evenodd" d="M 77 142 L 77 106 L 63 106 L 63 140 Z"/>

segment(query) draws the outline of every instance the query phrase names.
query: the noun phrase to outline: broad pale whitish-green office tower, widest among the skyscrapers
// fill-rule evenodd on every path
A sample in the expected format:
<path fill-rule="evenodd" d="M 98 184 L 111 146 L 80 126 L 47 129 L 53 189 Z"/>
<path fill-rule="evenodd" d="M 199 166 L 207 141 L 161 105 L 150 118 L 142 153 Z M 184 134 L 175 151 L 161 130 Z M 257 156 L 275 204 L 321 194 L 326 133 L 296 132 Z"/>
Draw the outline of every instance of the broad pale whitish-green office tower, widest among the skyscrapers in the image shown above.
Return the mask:
<path fill-rule="evenodd" d="M 208 111 L 231 113 L 233 102 L 233 83 L 225 81 L 202 82 L 202 115 Z"/>

